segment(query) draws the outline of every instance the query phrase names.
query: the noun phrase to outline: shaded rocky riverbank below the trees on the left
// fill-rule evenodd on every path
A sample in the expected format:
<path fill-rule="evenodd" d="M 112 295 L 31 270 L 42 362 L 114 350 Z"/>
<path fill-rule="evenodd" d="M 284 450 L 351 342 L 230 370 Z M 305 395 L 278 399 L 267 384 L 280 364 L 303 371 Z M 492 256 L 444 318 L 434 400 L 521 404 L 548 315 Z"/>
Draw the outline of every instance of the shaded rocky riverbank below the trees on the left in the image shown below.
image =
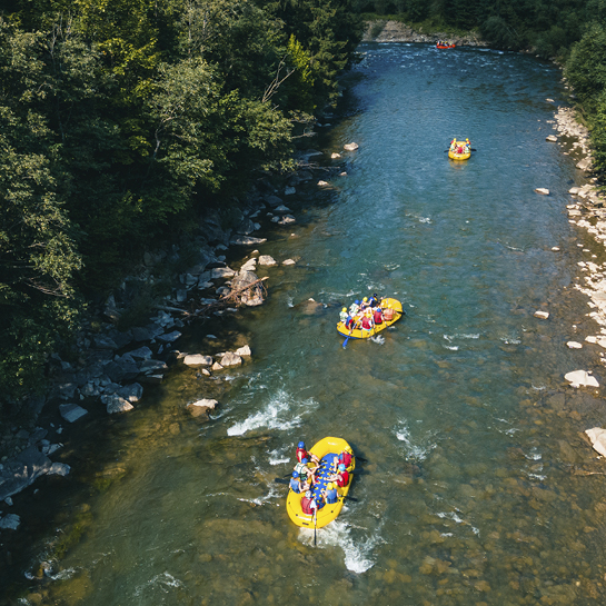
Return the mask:
<path fill-rule="evenodd" d="M 342 152 L 334 152 L 330 158 L 338 162 L 344 153 L 355 149 L 357 145 L 347 145 Z M 166 265 L 179 265 L 180 250 L 175 245 L 170 250 L 146 254 L 143 264 L 108 297 L 99 314 L 86 322 L 71 361 L 58 354 L 51 357 L 49 389 L 43 397 L 32 400 L 31 421 L 12 426 L 0 437 L 0 545 L 6 549 L 4 562 L 11 560 L 7 555 L 10 552 L 7 533 L 20 527 L 19 507 L 27 507 L 23 499 L 13 504 L 13 497 L 42 476 L 70 473 L 70 465 L 61 461 L 62 453 L 70 436 L 79 435 L 82 419 L 102 418 L 103 413 L 128 414 L 139 406 L 148 390 L 162 383 L 171 366 L 190 368 L 202 387 L 208 380 L 211 394 L 217 391 L 210 387 L 217 385 L 223 369 L 251 359 L 254 352 L 242 335 L 221 338 L 208 334 L 205 351 L 182 351 L 179 342 L 192 320 L 205 319 L 208 328 L 220 335 L 230 316 L 241 308 L 262 305 L 264 284 L 271 280 L 271 268 L 297 265 L 298 259 L 277 260 L 257 249 L 246 251 L 261 248 L 267 241 L 254 234 L 275 232 L 297 223 L 287 203 L 299 208 L 305 205 L 306 196 L 312 198 L 306 191 L 329 185 L 324 179 L 330 172 L 311 162 L 316 155 L 320 152 L 300 153 L 299 169 L 286 178 L 260 179 L 232 217 L 232 227 L 225 228 L 219 213 L 206 213 L 193 237 L 193 258 L 188 251 L 192 265 L 171 277 L 170 295 L 158 302 L 156 312 L 145 322 L 118 328 L 128 312 L 136 285 L 153 285 Z M 344 175 L 339 166 L 330 170 Z M 234 259 L 229 265 L 228 256 Z M 260 272 L 266 276 L 259 277 Z M 198 423 L 207 421 L 218 406 L 219 401 L 211 396 L 182 403 L 183 410 Z M 33 491 L 38 493 L 38 488 Z M 27 493 L 23 496 L 28 498 Z"/>

